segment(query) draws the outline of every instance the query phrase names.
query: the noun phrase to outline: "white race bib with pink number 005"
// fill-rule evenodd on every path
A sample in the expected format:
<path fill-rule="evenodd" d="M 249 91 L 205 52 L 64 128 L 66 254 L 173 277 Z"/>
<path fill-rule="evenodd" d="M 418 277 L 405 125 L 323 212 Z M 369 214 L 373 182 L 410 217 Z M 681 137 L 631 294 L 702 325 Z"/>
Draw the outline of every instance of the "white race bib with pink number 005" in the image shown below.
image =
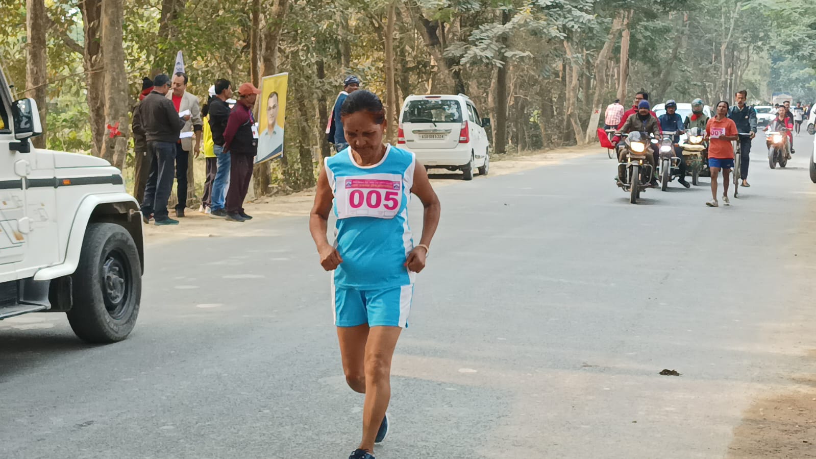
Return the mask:
<path fill-rule="evenodd" d="M 393 218 L 402 205 L 402 176 L 367 174 L 337 177 L 337 218 L 373 216 Z"/>

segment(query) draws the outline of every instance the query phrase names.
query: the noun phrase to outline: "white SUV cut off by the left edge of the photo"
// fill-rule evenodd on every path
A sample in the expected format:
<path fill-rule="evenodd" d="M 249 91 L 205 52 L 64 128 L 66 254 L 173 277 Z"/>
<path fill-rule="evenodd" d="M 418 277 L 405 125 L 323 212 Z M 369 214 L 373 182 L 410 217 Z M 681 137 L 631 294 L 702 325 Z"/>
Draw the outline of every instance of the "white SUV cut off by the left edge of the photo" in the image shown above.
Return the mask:
<path fill-rule="evenodd" d="M 64 312 L 82 340 L 124 339 L 139 314 L 141 213 L 104 159 L 33 149 L 37 104 L 0 70 L 0 319 Z"/>

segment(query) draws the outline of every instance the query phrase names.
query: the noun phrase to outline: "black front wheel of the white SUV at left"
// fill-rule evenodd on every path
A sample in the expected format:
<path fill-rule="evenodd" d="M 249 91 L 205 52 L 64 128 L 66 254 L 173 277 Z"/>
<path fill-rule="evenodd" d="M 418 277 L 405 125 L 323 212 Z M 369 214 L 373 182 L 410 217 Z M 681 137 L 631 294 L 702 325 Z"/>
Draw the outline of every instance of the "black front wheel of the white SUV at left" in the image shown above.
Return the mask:
<path fill-rule="evenodd" d="M 139 315 L 142 273 L 136 244 L 122 226 L 88 225 L 73 278 L 73 332 L 90 343 L 122 341 Z"/>

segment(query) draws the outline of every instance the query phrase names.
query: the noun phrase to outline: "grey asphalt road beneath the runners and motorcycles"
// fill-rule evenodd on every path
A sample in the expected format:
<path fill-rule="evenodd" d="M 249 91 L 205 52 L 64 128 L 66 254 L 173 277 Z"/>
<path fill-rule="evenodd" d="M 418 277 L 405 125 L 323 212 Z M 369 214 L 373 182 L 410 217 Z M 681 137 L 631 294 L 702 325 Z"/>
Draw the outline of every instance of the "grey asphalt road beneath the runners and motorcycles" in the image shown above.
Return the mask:
<path fill-rule="evenodd" d="M 707 179 L 633 206 L 602 151 L 440 187 L 377 458 L 725 457 L 753 399 L 816 372 L 813 137 L 775 171 L 762 139 L 731 207 Z M 0 457 L 348 457 L 362 397 L 307 221 L 247 225 L 150 246 L 117 345 L 0 323 Z"/>

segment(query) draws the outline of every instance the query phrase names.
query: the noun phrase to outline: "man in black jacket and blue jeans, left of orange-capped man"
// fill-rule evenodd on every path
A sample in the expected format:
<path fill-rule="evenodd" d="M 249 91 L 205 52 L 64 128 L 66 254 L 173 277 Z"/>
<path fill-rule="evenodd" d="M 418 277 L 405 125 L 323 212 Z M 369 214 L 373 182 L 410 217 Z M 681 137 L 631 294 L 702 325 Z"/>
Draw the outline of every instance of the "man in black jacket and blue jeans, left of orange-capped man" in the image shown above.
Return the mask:
<path fill-rule="evenodd" d="M 217 159 L 210 197 L 210 216 L 224 218 L 227 216 L 224 210 L 224 195 L 229 184 L 230 166 L 229 151 L 224 149 L 224 129 L 227 128 L 229 119 L 229 101 L 233 96 L 233 87 L 228 80 L 222 78 L 215 82 L 214 90 L 215 99 L 210 100 L 210 107 L 207 109 L 212 132 L 212 148 Z"/>

